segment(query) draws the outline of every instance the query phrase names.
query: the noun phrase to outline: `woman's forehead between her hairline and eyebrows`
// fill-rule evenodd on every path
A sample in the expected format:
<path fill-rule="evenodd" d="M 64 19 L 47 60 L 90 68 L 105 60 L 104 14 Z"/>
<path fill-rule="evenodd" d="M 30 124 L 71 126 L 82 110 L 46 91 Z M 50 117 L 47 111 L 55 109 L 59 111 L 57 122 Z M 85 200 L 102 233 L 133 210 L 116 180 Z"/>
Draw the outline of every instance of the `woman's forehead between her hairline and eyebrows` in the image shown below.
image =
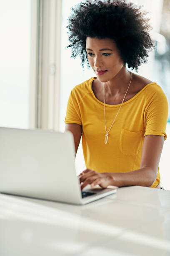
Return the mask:
<path fill-rule="evenodd" d="M 102 48 L 111 48 L 115 49 L 116 44 L 115 41 L 110 39 L 110 38 L 104 38 L 104 39 L 99 39 L 99 38 L 92 38 L 92 37 L 87 37 L 86 38 L 86 48 L 90 49 L 102 49 Z"/>

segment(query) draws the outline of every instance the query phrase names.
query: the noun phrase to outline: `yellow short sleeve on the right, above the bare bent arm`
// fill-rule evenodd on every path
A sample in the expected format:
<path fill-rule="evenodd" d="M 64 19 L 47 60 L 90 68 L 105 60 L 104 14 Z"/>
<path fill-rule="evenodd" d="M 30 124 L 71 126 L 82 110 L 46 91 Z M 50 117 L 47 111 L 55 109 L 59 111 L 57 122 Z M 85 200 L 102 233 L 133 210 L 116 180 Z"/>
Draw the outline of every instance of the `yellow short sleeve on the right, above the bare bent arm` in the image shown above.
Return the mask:
<path fill-rule="evenodd" d="M 145 113 L 146 118 L 146 135 L 160 135 L 164 136 L 164 140 L 167 138 L 166 125 L 168 120 L 168 100 L 160 88 L 155 92 Z"/>

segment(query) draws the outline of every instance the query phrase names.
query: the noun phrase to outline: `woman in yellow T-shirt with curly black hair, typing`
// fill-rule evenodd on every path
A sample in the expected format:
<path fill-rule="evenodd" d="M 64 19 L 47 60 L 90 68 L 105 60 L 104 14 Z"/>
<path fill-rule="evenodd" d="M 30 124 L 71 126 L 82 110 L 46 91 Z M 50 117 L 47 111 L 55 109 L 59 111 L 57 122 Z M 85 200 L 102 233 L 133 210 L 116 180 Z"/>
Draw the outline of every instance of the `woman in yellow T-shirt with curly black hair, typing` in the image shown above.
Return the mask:
<path fill-rule="evenodd" d="M 145 13 L 122 0 L 87 0 L 72 8 L 72 57 L 96 77 L 75 86 L 65 118 L 77 152 L 82 136 L 85 169 L 81 189 L 113 185 L 160 187 L 159 161 L 166 139 L 167 98 L 138 71 L 154 48 Z"/>

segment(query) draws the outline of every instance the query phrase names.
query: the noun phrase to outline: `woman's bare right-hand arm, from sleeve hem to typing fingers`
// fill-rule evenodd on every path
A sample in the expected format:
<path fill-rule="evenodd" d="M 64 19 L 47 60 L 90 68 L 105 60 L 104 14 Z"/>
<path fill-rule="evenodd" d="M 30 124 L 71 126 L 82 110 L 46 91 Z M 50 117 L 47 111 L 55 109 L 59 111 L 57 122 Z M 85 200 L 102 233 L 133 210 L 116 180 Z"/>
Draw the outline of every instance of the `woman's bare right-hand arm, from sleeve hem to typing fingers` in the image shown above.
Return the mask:
<path fill-rule="evenodd" d="M 80 183 L 83 182 L 81 189 L 87 184 L 107 187 L 109 185 L 123 186 L 144 186 L 150 187 L 158 172 L 161 152 L 163 149 L 164 136 L 147 135 L 144 138 L 140 169 L 125 173 L 100 173 L 86 169 L 83 175 L 80 175 Z"/>

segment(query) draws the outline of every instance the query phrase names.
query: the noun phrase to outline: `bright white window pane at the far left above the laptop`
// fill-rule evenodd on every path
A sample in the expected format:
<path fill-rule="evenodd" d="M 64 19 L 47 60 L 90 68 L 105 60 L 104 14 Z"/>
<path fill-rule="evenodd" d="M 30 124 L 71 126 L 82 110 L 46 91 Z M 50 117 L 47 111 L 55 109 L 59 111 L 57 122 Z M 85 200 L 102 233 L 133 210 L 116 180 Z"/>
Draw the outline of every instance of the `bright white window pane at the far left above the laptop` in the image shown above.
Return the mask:
<path fill-rule="evenodd" d="M 30 0 L 0 1 L 0 126 L 29 127 Z"/>

